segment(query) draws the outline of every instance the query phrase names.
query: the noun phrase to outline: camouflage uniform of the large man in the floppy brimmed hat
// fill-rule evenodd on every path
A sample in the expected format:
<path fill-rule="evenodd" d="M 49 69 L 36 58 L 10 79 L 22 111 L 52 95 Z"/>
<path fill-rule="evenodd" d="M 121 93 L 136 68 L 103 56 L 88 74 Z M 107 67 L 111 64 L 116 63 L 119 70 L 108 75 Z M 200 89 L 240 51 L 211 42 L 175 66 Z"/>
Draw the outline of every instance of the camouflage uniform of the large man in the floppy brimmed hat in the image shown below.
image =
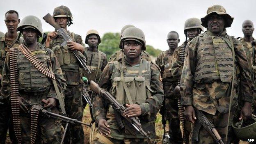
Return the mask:
<path fill-rule="evenodd" d="M 199 34 L 188 43 L 185 51 L 185 62 L 181 75 L 181 92 L 183 105 L 193 105 L 197 110 L 206 112 L 211 117 L 222 140 L 226 139 L 227 115 L 231 82 L 233 77 L 233 56 L 231 42 L 235 51 L 235 77 L 231 120 L 238 102 L 238 75 L 242 101 L 252 101 L 252 82 L 245 50 L 237 39 L 229 39 L 226 29 L 217 36 L 210 31 Z M 207 59 L 207 58 L 208 59 Z M 239 70 L 238 70 L 239 69 Z M 217 121 L 216 121 L 217 120 Z M 200 142 L 213 144 L 208 133 L 200 131 Z M 203 136 L 204 135 L 204 136 Z M 229 137 L 231 139 L 231 137 Z"/>

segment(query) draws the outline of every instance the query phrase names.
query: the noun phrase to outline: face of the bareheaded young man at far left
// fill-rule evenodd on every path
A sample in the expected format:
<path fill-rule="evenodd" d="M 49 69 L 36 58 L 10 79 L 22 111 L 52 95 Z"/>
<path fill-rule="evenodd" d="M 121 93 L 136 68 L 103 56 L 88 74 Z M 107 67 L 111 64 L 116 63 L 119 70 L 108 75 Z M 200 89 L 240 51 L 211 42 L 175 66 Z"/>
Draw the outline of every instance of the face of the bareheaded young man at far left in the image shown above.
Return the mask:
<path fill-rule="evenodd" d="M 8 32 L 16 32 L 18 24 L 20 23 L 20 19 L 18 19 L 18 16 L 16 13 L 7 13 L 5 15 L 5 24 L 8 29 Z"/>

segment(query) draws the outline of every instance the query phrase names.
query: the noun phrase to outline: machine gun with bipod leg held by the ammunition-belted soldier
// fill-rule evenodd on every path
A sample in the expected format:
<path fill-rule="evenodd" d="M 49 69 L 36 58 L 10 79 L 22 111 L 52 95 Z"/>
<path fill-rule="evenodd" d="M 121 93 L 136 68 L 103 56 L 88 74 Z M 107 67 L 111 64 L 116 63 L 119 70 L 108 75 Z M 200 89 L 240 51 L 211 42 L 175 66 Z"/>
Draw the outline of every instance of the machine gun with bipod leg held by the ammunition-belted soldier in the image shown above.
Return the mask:
<path fill-rule="evenodd" d="M 69 117 L 65 117 L 65 116 L 62 116 L 62 115 L 59 115 L 59 114 L 55 114 L 53 112 L 49 112 L 48 110 L 44 109 L 44 107 L 42 105 L 38 105 L 38 104 L 32 104 L 32 103 L 27 103 L 26 101 L 23 101 L 23 103 L 25 105 L 28 105 L 31 107 L 31 110 L 34 109 L 34 110 L 38 110 L 39 111 L 39 114 L 41 114 L 42 116 L 45 116 L 45 117 L 50 117 L 50 118 L 53 118 L 53 119 L 59 119 L 59 120 L 62 120 L 62 121 L 66 121 L 66 127 L 65 127 L 65 131 L 64 131 L 64 134 L 62 136 L 62 141 L 60 144 L 63 144 L 63 141 L 64 141 L 64 138 L 65 138 L 65 135 L 66 135 L 66 130 L 69 126 L 69 123 L 71 124 L 82 124 L 82 125 L 85 125 L 85 126 L 89 126 L 91 127 L 90 124 L 88 123 L 84 123 L 82 121 L 78 121 L 76 119 L 71 119 Z"/>

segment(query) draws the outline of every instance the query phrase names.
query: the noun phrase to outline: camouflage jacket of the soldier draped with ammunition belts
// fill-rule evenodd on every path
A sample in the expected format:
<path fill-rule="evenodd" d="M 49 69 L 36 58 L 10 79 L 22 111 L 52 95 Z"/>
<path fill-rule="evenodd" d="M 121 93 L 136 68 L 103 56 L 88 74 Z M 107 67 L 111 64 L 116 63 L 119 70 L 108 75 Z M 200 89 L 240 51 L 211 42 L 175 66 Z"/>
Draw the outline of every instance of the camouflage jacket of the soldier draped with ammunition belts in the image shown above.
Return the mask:
<path fill-rule="evenodd" d="M 42 52 L 45 53 L 43 55 L 46 55 L 46 57 L 49 57 L 50 62 L 52 63 L 52 70 L 53 73 L 55 74 L 55 79 L 57 81 L 57 85 L 60 89 L 64 89 L 66 81 L 63 77 L 62 74 L 62 70 L 60 69 L 59 63 L 57 61 L 57 58 L 55 56 L 55 54 L 53 53 L 52 50 L 50 50 L 49 48 L 45 48 L 43 47 L 40 43 L 37 43 L 37 47 L 35 50 L 32 50 L 32 53 L 34 53 L 34 55 L 42 55 Z M 20 57 L 19 55 L 23 55 L 22 53 L 20 53 L 20 50 L 18 50 L 18 57 Z M 21 62 L 22 61 L 22 62 Z M 30 72 L 25 72 L 26 68 L 18 68 L 18 81 L 19 81 L 19 93 L 21 94 L 21 96 L 24 96 L 23 98 L 27 101 L 29 101 L 30 103 L 37 103 L 37 104 L 42 104 L 43 102 L 41 101 L 43 98 L 47 99 L 47 98 L 57 98 L 56 92 L 55 92 L 55 88 L 52 84 L 52 79 L 46 77 L 45 75 L 43 75 L 40 71 L 38 71 L 35 66 L 29 62 L 28 60 L 21 60 L 21 63 L 23 66 L 29 66 L 34 72 L 30 73 Z M 48 62 L 46 60 L 39 59 L 39 61 L 41 61 L 44 65 L 50 65 L 47 64 Z M 18 63 L 18 60 L 17 60 Z M 29 63 L 29 64 L 27 64 Z M 18 67 L 18 66 L 17 66 Z M 37 74 L 34 74 L 37 73 Z M 4 69 L 3 69 L 3 73 L 2 73 L 2 88 L 1 88 L 1 95 L 3 96 L 3 98 L 7 98 L 7 101 L 9 101 L 10 99 L 10 57 L 9 57 L 9 52 L 6 55 L 6 59 L 5 59 L 5 64 L 4 64 Z M 33 76 L 34 75 L 34 76 Z M 43 79 L 41 77 L 48 78 L 48 82 L 50 82 L 50 85 L 45 86 L 45 87 L 38 87 L 37 83 L 39 82 L 32 82 L 35 83 L 35 87 L 34 85 L 30 85 L 29 87 L 26 87 L 26 89 L 22 89 L 21 82 L 24 82 L 25 79 L 29 78 L 30 80 L 37 77 L 37 75 L 41 75 L 38 76 L 40 79 Z M 32 91 L 32 92 L 30 92 Z"/>

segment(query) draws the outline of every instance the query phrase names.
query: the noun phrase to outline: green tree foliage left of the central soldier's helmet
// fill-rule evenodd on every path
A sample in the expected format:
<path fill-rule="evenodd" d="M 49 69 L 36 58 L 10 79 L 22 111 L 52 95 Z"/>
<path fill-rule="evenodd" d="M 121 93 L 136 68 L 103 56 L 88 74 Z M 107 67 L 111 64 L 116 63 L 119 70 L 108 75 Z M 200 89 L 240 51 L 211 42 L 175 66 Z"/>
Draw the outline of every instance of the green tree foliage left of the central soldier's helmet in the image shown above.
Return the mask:
<path fill-rule="evenodd" d="M 101 38 L 98 49 L 107 55 L 107 59 L 117 50 L 119 50 L 119 33 L 107 32 Z"/>

